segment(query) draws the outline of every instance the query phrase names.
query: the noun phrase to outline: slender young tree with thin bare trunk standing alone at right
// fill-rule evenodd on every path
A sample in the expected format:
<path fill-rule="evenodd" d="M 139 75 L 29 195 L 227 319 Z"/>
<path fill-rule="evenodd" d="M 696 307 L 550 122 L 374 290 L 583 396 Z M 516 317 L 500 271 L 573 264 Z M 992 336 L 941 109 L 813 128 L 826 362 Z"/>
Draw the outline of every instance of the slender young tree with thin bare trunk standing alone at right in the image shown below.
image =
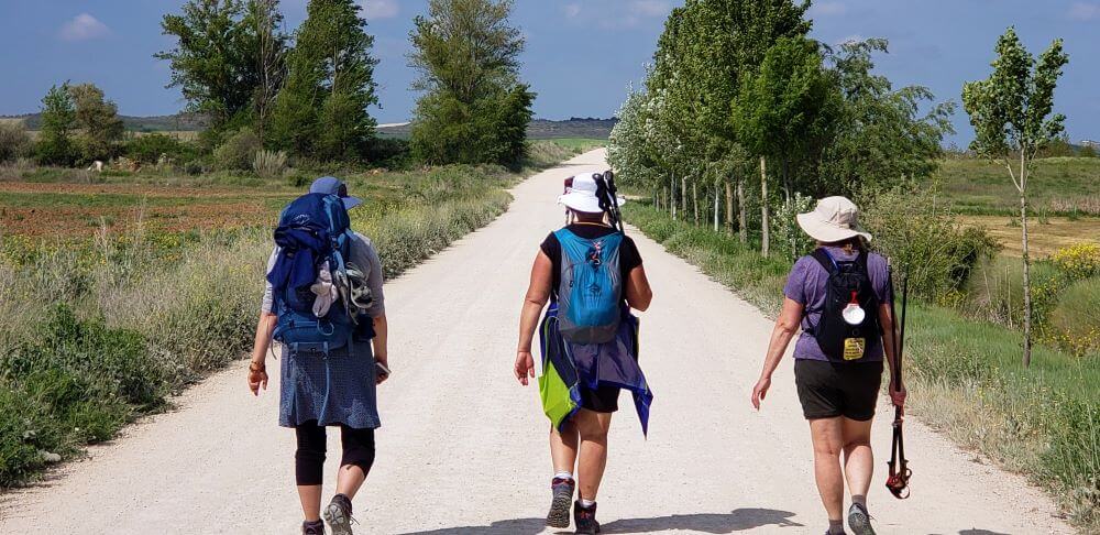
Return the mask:
<path fill-rule="evenodd" d="M 1053 113 L 1054 90 L 1062 68 L 1069 62 L 1062 40 L 1036 62 L 1009 28 L 997 42 L 997 59 L 989 78 L 963 86 L 963 106 L 970 116 L 975 140 L 970 149 L 999 162 L 1020 194 L 1023 245 L 1024 365 L 1031 364 L 1032 296 L 1027 249 L 1027 181 L 1035 154 L 1065 129 L 1066 117 Z"/>

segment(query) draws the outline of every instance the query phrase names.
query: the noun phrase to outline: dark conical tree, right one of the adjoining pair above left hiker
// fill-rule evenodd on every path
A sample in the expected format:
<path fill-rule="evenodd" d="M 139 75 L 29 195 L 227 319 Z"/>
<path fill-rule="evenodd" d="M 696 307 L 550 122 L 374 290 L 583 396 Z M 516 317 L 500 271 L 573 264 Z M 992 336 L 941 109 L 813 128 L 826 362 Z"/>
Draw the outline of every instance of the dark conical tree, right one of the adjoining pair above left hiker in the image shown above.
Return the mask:
<path fill-rule="evenodd" d="M 371 56 L 374 37 L 353 0 L 312 0 L 288 54 L 286 85 L 275 100 L 276 146 L 321 160 L 363 160 L 374 138 L 367 108 L 378 102 Z"/>

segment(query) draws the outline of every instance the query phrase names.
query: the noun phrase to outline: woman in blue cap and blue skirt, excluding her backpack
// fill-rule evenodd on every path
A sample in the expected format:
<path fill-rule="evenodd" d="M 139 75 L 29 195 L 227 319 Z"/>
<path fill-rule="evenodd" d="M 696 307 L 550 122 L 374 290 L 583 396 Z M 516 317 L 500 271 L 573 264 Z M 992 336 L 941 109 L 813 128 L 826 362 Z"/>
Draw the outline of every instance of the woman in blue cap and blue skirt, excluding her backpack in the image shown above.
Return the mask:
<path fill-rule="evenodd" d="M 359 198 L 348 196 L 346 186 L 331 176 L 315 181 L 309 193 L 321 194 L 317 198 L 338 196 L 344 210 L 362 203 Z M 359 318 L 358 324 L 353 330 L 349 330 L 350 335 L 344 337 L 346 343 L 339 343 L 343 345 L 339 349 L 329 351 L 326 347 L 323 353 L 295 352 L 285 345 L 279 370 L 282 378 L 279 425 L 294 428 L 297 435 L 295 479 L 305 515 L 301 532 L 307 535 L 324 534 L 324 524 L 321 522 L 321 482 L 326 456 L 326 427 L 337 426 L 340 428 L 343 452 L 337 472 L 337 493 L 323 514 L 333 534 L 352 533 L 350 525 L 352 500 L 374 463 L 374 429 L 381 425 L 375 386 L 388 376 L 382 264 L 371 240 L 360 233 L 351 232 L 346 217 L 343 217 L 345 221 L 343 232 L 348 237 L 348 275 L 352 279 L 351 295 L 344 298 L 361 307 L 355 313 Z M 278 233 L 277 230 L 277 242 Z M 286 310 L 279 304 L 279 296 L 284 293 L 276 292 L 271 282 L 277 259 L 280 259 L 279 247 L 276 247 L 268 262 L 267 290 L 264 294 L 260 323 L 256 326 L 252 364 L 249 368 L 249 387 L 256 395 L 260 389 L 267 389 L 265 365 L 267 351 L 279 324 L 279 315 Z M 317 283 L 322 283 L 322 279 L 324 277 L 318 276 Z M 310 286 L 311 290 L 314 287 L 316 286 Z M 331 285 L 323 288 L 331 290 L 332 296 L 337 296 L 337 291 Z M 319 293 L 318 297 L 324 293 Z M 339 298 L 330 299 L 330 305 L 343 306 Z M 317 306 L 315 303 L 315 313 Z M 319 314 L 318 317 L 324 314 Z M 344 342 L 343 339 L 339 341 Z"/>

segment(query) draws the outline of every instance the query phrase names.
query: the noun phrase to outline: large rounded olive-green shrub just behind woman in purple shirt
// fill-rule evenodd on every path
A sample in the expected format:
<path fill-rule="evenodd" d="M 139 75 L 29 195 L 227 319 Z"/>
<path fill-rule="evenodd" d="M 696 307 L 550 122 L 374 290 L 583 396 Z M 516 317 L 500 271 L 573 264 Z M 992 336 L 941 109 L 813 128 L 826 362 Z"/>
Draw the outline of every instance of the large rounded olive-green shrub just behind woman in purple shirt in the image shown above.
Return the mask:
<path fill-rule="evenodd" d="M 938 200 L 938 201 L 937 201 Z M 862 225 L 891 259 L 899 280 L 931 303 L 957 301 L 975 265 L 999 245 L 986 231 L 958 222 L 934 190 L 895 188 L 864 201 Z"/>

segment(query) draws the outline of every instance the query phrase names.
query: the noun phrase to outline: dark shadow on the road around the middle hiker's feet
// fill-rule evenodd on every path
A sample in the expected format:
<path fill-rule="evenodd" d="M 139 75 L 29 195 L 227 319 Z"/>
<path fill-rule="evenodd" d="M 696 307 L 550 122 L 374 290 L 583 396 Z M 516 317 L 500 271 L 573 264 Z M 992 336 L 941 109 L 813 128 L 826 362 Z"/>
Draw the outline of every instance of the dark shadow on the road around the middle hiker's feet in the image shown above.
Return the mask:
<path fill-rule="evenodd" d="M 755 527 L 802 527 L 802 524 L 790 520 L 794 513 L 773 509 L 738 509 L 728 514 L 698 513 L 673 514 L 652 518 L 623 518 L 604 524 L 603 533 L 651 533 L 663 531 L 692 531 L 700 533 L 728 534 Z M 444 527 L 427 532 L 413 532 L 404 535 L 534 535 L 546 529 L 542 518 L 515 518 L 497 521 L 487 526 Z M 563 532 L 564 533 L 564 532 Z M 966 534 L 964 534 L 966 535 Z M 976 532 L 970 535 L 981 535 Z"/>

